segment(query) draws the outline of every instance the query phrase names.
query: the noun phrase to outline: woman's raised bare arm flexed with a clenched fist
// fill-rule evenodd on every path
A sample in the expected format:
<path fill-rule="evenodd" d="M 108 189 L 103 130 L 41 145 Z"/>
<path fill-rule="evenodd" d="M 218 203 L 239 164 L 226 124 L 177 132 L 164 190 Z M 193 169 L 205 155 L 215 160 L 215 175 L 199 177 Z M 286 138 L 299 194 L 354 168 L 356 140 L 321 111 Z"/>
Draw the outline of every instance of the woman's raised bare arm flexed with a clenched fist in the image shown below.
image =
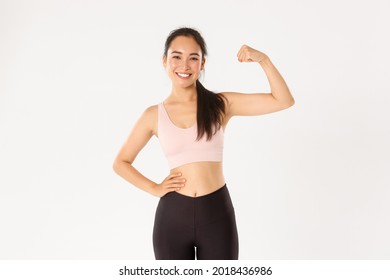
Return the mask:
<path fill-rule="evenodd" d="M 280 111 L 294 105 L 295 101 L 283 77 L 269 57 L 249 46 L 242 46 L 238 52 L 240 62 L 257 62 L 267 75 L 271 93 L 244 94 L 222 93 L 228 100 L 226 116 L 256 116 Z"/>

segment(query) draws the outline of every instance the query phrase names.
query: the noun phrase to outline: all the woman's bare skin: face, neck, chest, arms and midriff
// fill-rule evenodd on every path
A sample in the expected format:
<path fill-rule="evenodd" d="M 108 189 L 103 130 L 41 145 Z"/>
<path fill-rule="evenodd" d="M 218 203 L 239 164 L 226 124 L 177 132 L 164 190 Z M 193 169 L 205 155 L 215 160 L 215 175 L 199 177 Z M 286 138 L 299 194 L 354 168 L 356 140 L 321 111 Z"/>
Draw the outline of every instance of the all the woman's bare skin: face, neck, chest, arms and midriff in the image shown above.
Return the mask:
<path fill-rule="evenodd" d="M 223 130 L 233 116 L 257 116 L 284 110 L 294 104 L 287 84 L 269 57 L 247 45 L 238 54 L 239 62 L 258 63 L 270 84 L 270 93 L 245 94 L 222 92 L 227 98 Z M 205 66 L 205 58 L 192 37 L 176 37 L 163 57 L 163 65 L 172 81 L 170 95 L 164 106 L 171 121 L 178 127 L 188 128 L 196 122 L 196 80 Z M 177 73 L 190 74 L 179 77 Z M 157 136 L 157 105 L 148 107 L 134 125 L 115 161 L 114 171 L 134 186 L 162 197 L 176 191 L 196 197 L 216 191 L 225 184 L 222 162 L 194 162 L 170 170 L 170 174 L 156 183 L 142 175 L 133 165 L 136 156 L 152 136 Z"/>

